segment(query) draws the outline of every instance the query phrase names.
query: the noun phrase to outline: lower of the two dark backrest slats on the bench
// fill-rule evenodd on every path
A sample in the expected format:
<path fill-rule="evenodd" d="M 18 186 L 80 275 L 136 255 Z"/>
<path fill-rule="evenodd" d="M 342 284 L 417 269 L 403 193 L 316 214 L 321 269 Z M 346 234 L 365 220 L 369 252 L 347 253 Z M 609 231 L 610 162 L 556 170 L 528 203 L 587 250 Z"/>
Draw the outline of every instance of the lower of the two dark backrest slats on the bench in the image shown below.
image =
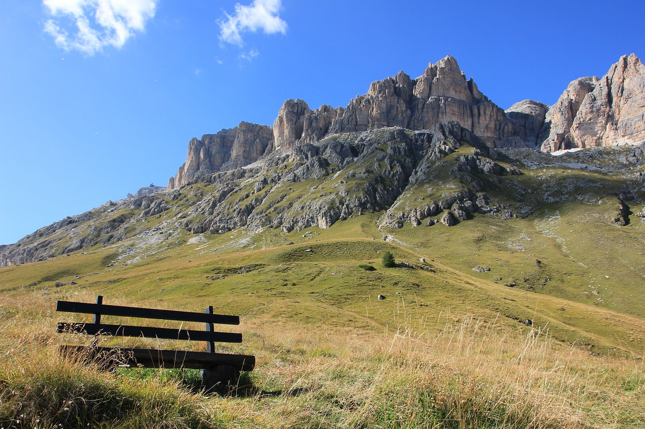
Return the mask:
<path fill-rule="evenodd" d="M 165 339 L 188 339 L 194 341 L 217 341 L 241 343 L 242 334 L 234 332 L 208 332 L 205 330 L 157 328 L 129 325 L 106 325 L 104 323 L 58 323 L 58 332 L 79 332 L 88 335 L 110 334 L 121 337 L 145 337 Z"/>

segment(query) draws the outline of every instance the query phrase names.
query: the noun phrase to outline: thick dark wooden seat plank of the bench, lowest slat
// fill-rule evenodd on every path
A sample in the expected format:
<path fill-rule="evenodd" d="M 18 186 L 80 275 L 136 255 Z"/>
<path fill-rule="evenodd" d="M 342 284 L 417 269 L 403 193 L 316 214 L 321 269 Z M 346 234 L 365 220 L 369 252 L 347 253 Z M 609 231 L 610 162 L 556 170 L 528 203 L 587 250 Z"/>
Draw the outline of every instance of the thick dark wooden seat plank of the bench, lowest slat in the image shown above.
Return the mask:
<path fill-rule="evenodd" d="M 106 361 L 113 357 L 121 364 L 146 368 L 209 368 L 213 365 L 233 365 L 241 371 L 255 368 L 255 356 L 244 354 L 188 352 L 184 350 L 155 350 L 148 348 L 88 347 L 61 345 L 63 354 L 80 354 Z"/>

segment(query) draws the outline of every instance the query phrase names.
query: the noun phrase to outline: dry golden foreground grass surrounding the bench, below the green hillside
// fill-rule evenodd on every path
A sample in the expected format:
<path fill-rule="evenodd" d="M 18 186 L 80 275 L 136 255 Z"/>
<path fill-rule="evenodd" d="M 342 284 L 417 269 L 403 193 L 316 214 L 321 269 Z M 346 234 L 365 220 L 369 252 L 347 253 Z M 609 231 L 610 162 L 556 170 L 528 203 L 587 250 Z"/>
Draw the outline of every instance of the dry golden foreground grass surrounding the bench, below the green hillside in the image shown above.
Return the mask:
<path fill-rule="evenodd" d="M 385 332 L 245 320 L 244 344 L 229 349 L 258 365 L 221 397 L 177 372 L 112 374 L 63 359 L 52 301 L 0 297 L 0 427 L 645 427 L 641 360 L 445 319 L 426 330 L 401 309 Z"/>

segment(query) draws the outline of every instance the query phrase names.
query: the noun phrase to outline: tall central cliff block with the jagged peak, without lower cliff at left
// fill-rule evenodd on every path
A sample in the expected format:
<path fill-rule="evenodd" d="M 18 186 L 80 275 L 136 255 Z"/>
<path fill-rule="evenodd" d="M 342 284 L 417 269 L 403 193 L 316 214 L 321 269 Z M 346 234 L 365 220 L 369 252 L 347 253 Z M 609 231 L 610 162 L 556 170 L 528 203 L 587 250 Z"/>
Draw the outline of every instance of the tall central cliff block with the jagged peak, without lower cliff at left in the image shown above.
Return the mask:
<path fill-rule="evenodd" d="M 513 122 L 472 79 L 466 80 L 457 60 L 450 56 L 428 65 L 417 79 L 399 72 L 372 82 L 368 92 L 351 100 L 345 109 L 321 106 L 312 111 L 302 100 L 288 100 L 273 127 L 276 147 L 293 148 L 299 142 L 315 142 L 329 134 L 393 126 L 432 130 L 437 124 L 452 121 L 489 146 L 517 145 Z"/>

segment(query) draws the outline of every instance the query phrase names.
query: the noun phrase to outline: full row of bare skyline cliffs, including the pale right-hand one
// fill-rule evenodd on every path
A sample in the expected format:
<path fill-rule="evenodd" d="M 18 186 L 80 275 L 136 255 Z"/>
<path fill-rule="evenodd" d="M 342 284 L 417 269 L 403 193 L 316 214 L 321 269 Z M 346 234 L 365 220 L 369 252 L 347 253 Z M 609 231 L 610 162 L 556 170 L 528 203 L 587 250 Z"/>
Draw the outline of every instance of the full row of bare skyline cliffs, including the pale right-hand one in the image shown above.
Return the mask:
<path fill-rule="evenodd" d="M 168 189 L 195 176 L 252 164 L 273 151 L 323 140 L 330 135 L 401 127 L 433 130 L 459 122 L 491 148 L 561 149 L 638 144 L 645 140 L 645 68 L 635 55 L 624 56 L 598 79 L 582 77 L 553 106 L 524 100 L 506 112 L 477 88 L 453 57 L 429 64 L 416 79 L 399 72 L 372 82 L 365 95 L 346 108 L 323 105 L 311 110 L 303 100 L 286 100 L 273 127 L 242 122 L 215 135 L 193 138 L 188 156 Z"/>

